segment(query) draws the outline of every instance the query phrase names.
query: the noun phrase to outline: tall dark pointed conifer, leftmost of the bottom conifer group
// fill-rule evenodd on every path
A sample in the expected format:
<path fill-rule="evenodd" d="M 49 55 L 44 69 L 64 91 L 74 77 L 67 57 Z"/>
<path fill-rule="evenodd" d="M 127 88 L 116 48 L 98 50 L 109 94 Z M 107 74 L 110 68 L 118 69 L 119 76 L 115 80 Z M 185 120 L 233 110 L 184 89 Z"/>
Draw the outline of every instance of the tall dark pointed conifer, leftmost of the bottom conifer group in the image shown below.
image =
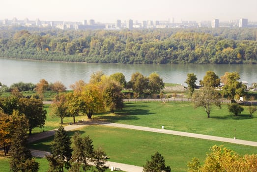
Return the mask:
<path fill-rule="evenodd" d="M 53 142 L 51 143 L 51 155 L 47 156 L 49 172 L 63 172 L 64 168 L 70 168 L 71 140 L 66 130 L 61 125 L 58 127 Z"/>

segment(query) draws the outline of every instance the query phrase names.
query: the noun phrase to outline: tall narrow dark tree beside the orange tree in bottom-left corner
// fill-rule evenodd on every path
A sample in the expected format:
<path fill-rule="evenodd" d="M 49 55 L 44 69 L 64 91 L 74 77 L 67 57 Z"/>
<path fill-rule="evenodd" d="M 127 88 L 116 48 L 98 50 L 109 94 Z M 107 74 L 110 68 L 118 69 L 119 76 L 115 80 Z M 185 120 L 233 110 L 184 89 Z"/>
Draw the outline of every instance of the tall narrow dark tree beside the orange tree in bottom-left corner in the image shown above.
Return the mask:
<path fill-rule="evenodd" d="M 10 149 L 11 172 L 37 172 L 39 164 L 32 159 L 31 152 L 27 147 L 27 132 L 29 121 L 25 115 L 15 111 L 13 117 L 13 134 Z"/>

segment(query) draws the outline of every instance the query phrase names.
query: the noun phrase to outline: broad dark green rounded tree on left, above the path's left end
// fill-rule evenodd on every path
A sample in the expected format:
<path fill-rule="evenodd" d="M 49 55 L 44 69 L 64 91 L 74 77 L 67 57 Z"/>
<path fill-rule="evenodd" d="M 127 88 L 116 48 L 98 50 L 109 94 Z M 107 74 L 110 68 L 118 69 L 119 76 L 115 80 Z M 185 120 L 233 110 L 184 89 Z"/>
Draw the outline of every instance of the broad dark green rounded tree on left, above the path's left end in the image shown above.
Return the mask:
<path fill-rule="evenodd" d="M 34 98 L 21 98 L 18 102 L 18 110 L 29 120 L 29 134 L 35 127 L 43 127 L 46 120 L 46 110 L 41 100 Z"/>

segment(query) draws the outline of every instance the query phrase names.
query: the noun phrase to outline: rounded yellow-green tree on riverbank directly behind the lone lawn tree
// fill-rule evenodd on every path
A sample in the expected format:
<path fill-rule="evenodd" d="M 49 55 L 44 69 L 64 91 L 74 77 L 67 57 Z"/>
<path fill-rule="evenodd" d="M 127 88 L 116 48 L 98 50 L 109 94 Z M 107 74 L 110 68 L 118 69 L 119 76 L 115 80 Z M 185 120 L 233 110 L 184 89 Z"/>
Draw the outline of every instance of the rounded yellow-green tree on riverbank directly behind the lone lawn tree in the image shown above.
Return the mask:
<path fill-rule="evenodd" d="M 202 80 L 203 86 L 208 87 L 217 87 L 220 85 L 220 82 L 219 76 L 213 71 L 207 71 Z"/>

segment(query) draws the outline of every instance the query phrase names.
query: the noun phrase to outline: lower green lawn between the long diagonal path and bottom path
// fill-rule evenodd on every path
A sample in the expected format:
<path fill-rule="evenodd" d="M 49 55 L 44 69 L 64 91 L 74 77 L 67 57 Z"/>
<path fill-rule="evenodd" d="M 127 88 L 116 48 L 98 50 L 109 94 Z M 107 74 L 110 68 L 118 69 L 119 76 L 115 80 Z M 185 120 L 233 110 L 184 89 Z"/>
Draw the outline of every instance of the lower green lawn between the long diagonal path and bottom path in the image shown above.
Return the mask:
<path fill-rule="evenodd" d="M 75 131 L 69 131 L 72 136 Z M 159 151 L 171 166 L 172 172 L 185 172 L 187 162 L 193 157 L 203 162 L 206 152 L 215 144 L 224 145 L 228 149 L 243 154 L 256 154 L 257 147 L 232 143 L 201 140 L 195 138 L 173 136 L 146 131 L 91 125 L 80 128 L 82 136 L 93 140 L 94 147 L 102 146 L 110 157 L 109 161 L 141 166 L 150 160 L 150 156 Z M 30 148 L 50 151 L 53 137 L 32 143 Z"/>

